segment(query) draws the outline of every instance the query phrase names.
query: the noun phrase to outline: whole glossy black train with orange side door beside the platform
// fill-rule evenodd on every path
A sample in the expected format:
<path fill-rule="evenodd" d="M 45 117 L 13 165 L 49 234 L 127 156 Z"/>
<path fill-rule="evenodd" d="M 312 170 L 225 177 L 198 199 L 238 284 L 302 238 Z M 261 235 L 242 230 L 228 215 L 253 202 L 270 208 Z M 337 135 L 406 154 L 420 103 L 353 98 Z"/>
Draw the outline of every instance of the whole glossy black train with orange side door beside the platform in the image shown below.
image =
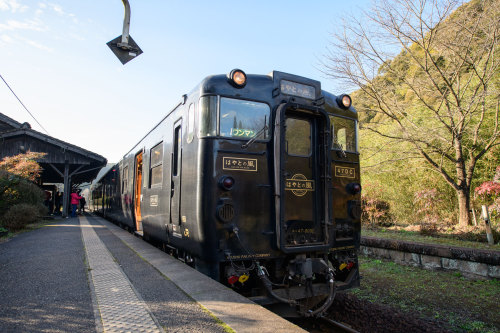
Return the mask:
<path fill-rule="evenodd" d="M 348 95 L 235 69 L 184 95 L 92 204 L 255 302 L 315 316 L 359 286 L 357 145 Z"/>

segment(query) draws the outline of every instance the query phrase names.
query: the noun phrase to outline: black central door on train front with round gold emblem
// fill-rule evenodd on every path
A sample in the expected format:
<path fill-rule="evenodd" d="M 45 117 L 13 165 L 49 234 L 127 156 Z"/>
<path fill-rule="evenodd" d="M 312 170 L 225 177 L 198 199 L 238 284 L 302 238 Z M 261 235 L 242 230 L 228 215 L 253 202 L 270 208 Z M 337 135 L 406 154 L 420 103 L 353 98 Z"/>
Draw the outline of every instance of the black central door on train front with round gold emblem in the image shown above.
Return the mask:
<path fill-rule="evenodd" d="M 297 109 L 281 117 L 279 246 L 285 252 L 327 247 L 326 117 Z"/>

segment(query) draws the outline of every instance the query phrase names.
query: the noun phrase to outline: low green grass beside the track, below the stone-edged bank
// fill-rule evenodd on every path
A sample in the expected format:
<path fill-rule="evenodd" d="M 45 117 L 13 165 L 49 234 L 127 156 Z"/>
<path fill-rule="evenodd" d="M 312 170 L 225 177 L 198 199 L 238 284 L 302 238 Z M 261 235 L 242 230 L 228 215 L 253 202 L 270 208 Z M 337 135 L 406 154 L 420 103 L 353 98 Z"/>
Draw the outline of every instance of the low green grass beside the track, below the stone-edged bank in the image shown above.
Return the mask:
<path fill-rule="evenodd" d="M 500 281 L 469 280 L 367 257 L 359 262 L 361 287 L 351 291 L 358 298 L 438 319 L 455 332 L 498 332 Z"/>

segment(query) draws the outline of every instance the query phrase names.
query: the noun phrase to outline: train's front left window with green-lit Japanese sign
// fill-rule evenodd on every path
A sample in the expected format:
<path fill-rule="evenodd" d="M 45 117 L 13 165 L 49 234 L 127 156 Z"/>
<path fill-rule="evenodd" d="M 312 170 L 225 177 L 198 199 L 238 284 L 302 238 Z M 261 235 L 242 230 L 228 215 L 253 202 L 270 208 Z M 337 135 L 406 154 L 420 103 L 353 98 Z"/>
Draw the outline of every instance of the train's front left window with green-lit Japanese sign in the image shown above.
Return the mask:
<path fill-rule="evenodd" d="M 269 105 L 241 99 L 220 99 L 220 135 L 249 139 L 269 139 Z M 266 128 L 267 126 L 267 128 Z"/>

